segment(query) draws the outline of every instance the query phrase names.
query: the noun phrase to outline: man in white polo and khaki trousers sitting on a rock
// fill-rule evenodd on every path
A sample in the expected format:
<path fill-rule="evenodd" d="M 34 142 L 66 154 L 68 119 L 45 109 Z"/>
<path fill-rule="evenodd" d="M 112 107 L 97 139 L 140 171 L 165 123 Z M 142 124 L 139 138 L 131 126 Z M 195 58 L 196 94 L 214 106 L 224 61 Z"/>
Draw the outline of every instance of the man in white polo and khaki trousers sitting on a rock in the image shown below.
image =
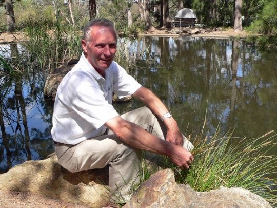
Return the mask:
<path fill-rule="evenodd" d="M 184 137 L 165 105 L 113 61 L 116 42 L 111 21 L 96 19 L 85 26 L 80 61 L 57 89 L 51 134 L 58 163 L 69 171 L 109 165 L 110 198 L 118 202 L 129 200 L 138 182 L 140 149 L 189 168 L 193 156 L 187 149 L 193 146 L 186 140 L 183 148 Z M 147 107 L 120 116 L 111 105 L 113 91 Z"/>

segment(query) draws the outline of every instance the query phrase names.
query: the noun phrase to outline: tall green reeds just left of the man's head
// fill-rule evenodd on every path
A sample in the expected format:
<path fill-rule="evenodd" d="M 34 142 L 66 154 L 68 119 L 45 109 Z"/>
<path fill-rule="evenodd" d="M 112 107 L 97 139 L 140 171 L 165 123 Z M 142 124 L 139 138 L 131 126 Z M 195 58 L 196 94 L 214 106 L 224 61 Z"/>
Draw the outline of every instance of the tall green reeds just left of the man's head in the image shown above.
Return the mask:
<path fill-rule="evenodd" d="M 55 29 L 49 31 L 47 26 L 28 26 L 25 30 L 29 41 L 24 46 L 29 51 L 30 63 L 41 68 L 56 67 L 71 59 L 77 59 L 81 52 L 81 33 L 70 25 L 61 25 L 57 20 Z"/>

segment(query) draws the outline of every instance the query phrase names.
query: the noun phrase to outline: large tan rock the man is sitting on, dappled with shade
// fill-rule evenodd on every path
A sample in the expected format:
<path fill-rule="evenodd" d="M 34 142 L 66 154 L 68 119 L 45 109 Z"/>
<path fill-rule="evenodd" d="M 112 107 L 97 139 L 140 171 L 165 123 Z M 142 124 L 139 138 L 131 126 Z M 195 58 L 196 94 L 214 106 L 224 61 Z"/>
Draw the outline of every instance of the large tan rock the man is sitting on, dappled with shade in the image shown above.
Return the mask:
<path fill-rule="evenodd" d="M 109 201 L 107 183 L 108 168 L 70 173 L 52 156 L 41 161 L 26 161 L 1 174 L 0 192 L 28 192 L 73 204 L 103 207 Z"/>

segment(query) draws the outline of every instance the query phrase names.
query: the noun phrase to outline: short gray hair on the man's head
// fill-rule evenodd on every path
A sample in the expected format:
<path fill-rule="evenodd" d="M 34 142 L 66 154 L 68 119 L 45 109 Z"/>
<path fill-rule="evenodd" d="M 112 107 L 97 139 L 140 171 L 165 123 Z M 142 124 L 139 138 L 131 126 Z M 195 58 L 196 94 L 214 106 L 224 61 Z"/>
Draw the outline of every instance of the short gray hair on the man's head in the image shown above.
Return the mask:
<path fill-rule="evenodd" d="M 83 28 L 83 36 L 82 36 L 82 40 L 85 40 L 85 41 L 89 41 L 90 39 L 90 32 L 92 30 L 92 27 L 94 25 L 98 25 L 98 26 L 105 26 L 105 27 L 110 27 L 114 30 L 114 33 L 115 33 L 115 38 L 117 40 L 117 33 L 114 29 L 114 24 L 112 21 L 110 20 L 107 20 L 105 18 L 96 18 L 96 19 L 93 19 L 91 21 L 89 21 L 85 27 Z"/>

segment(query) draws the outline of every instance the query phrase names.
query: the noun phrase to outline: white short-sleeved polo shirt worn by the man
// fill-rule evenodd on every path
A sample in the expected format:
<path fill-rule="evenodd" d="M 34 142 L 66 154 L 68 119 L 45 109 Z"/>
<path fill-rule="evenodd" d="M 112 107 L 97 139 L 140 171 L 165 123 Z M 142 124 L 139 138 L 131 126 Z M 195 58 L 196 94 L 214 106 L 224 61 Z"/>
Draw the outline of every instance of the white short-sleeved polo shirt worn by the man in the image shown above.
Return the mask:
<path fill-rule="evenodd" d="M 105 79 L 84 54 L 58 86 L 52 138 L 56 142 L 77 144 L 103 134 L 104 124 L 118 116 L 112 106 L 112 92 L 118 97 L 133 94 L 141 85 L 116 62 L 105 71 Z"/>

